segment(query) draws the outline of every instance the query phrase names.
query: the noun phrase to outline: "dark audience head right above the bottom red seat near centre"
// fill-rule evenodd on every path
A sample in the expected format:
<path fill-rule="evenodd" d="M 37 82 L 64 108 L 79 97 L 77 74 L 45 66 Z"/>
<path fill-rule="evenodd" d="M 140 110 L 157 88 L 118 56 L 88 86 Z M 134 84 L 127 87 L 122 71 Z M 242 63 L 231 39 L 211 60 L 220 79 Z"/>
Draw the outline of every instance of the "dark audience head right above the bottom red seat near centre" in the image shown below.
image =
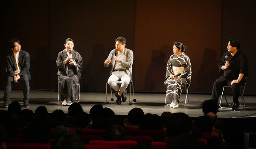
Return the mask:
<path fill-rule="evenodd" d="M 124 141 L 125 140 L 125 128 L 119 125 L 111 125 L 105 135 L 107 141 Z"/>

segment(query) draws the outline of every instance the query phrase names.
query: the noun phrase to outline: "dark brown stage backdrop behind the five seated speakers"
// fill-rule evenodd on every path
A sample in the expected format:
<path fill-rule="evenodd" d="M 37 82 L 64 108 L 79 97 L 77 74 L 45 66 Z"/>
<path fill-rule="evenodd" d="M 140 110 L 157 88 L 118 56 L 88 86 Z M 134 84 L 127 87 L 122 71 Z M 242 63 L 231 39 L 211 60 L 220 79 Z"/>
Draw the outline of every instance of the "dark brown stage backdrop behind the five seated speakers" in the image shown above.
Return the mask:
<path fill-rule="evenodd" d="M 82 92 L 104 92 L 110 68 L 103 66 L 114 40 L 123 36 L 134 51 L 137 92 L 165 92 L 163 78 L 172 44 L 180 41 L 192 62 L 189 92 L 210 93 L 221 75 L 218 61 L 229 38 L 241 40 L 250 76 L 247 95 L 256 95 L 253 65 L 256 24 L 254 0 L 14 0 L 0 6 L 0 88 L 4 57 L 15 37 L 31 59 L 31 89 L 57 90 L 55 60 L 64 41 L 73 38 L 84 59 Z"/>

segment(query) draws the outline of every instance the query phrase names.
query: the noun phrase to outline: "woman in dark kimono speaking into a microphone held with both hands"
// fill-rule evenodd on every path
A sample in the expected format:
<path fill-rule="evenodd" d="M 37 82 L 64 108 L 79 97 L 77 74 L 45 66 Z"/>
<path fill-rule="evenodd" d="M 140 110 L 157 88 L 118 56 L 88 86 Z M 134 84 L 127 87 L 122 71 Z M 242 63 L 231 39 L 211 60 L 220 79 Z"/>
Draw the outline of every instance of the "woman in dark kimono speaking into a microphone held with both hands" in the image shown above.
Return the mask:
<path fill-rule="evenodd" d="M 73 49 L 74 42 L 71 38 L 67 38 L 64 46 L 65 49 L 58 53 L 56 64 L 60 100 L 63 101 L 63 106 L 70 106 L 79 92 L 83 58 Z"/>

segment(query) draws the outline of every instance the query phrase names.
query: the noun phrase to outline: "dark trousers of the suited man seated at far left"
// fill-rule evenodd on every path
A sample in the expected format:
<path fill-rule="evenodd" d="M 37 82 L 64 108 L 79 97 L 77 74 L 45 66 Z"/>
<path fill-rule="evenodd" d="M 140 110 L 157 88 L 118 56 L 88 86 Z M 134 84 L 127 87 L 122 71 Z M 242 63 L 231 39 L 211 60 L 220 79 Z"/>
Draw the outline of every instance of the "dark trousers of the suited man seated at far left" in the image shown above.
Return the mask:
<path fill-rule="evenodd" d="M 24 74 L 24 75 L 20 76 L 20 79 L 18 81 L 23 86 L 23 101 L 25 101 L 25 100 L 29 101 L 29 76 L 27 74 Z M 12 83 L 14 83 L 14 78 L 12 76 L 6 76 L 6 84 L 4 86 L 3 101 L 10 102 Z"/>

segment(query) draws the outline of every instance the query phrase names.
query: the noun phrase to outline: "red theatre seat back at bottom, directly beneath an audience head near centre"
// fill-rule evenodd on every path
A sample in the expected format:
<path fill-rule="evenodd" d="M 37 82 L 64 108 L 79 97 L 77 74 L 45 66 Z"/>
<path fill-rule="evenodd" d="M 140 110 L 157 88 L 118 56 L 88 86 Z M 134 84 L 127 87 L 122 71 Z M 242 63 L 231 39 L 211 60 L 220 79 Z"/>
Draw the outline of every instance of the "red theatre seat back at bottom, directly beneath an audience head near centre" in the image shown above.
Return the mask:
<path fill-rule="evenodd" d="M 131 148 L 134 145 L 137 145 L 138 143 L 133 140 L 126 140 L 126 141 L 103 141 L 103 140 L 90 140 L 89 144 L 111 144 L 111 145 L 117 145 L 121 149 L 128 149 Z"/>

